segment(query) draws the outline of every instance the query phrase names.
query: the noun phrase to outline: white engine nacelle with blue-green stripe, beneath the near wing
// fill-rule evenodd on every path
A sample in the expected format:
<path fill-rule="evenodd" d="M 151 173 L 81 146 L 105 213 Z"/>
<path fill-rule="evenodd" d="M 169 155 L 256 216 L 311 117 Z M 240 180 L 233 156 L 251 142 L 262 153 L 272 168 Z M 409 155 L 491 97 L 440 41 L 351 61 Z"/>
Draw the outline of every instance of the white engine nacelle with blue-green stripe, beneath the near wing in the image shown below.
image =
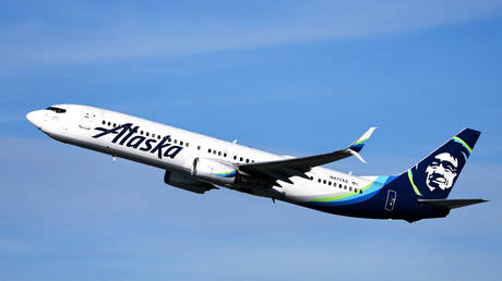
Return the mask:
<path fill-rule="evenodd" d="M 204 182 L 230 185 L 236 182 L 237 169 L 228 163 L 198 157 L 193 160 L 192 176 Z"/>

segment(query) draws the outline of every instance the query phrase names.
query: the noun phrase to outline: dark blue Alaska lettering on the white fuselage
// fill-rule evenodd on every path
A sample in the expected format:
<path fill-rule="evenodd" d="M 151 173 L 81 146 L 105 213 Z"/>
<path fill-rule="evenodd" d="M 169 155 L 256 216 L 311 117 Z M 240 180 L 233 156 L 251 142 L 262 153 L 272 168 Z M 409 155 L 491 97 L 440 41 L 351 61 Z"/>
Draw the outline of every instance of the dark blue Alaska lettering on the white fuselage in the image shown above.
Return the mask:
<path fill-rule="evenodd" d="M 116 144 L 118 142 L 119 145 L 124 145 L 125 147 L 156 154 L 158 159 L 163 159 L 163 157 L 169 157 L 172 159 L 183 149 L 181 146 L 166 144 L 170 136 L 155 139 L 138 135 L 139 129 L 140 126 L 132 127 L 132 123 L 127 123 L 113 129 L 95 127 L 94 130 L 100 131 L 101 133 L 98 133 L 93 137 L 99 138 L 109 134 L 116 135 L 113 139 L 111 139 L 111 143 Z"/>

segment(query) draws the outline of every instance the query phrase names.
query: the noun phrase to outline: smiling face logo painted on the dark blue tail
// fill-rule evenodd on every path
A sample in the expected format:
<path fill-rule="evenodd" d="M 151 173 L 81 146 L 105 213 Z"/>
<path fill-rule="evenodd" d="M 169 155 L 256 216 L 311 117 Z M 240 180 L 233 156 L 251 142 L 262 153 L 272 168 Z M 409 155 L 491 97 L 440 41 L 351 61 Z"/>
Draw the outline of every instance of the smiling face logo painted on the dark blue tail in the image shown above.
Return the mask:
<path fill-rule="evenodd" d="M 431 192 L 435 188 L 447 190 L 457 176 L 458 159 L 449 152 L 442 152 L 432 159 L 426 169 L 426 185 Z"/>

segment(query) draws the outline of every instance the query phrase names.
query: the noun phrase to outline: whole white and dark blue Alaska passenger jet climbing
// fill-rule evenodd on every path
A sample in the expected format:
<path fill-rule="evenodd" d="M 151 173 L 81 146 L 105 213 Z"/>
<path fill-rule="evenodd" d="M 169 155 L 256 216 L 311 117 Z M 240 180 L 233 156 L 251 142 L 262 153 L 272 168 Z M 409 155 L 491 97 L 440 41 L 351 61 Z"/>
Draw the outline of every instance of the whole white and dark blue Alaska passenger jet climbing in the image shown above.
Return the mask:
<path fill-rule="evenodd" d="M 344 149 L 296 158 L 96 107 L 55 105 L 26 118 L 53 139 L 163 169 L 166 184 L 199 194 L 219 186 L 334 215 L 410 223 L 487 201 L 446 199 L 480 135 L 473 129 L 401 174 L 356 176 L 321 166 L 351 156 L 364 162 L 360 151 L 375 127 Z"/>

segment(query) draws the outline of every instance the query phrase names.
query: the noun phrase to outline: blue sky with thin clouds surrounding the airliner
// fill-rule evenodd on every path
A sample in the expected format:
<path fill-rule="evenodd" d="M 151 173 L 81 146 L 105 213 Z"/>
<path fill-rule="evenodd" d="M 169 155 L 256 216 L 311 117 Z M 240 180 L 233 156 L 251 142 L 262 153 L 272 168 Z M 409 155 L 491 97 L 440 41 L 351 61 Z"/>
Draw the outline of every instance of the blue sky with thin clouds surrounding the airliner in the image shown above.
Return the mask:
<path fill-rule="evenodd" d="M 502 1 L 0 2 L 1 280 L 499 280 Z M 26 112 L 84 103 L 393 174 L 482 132 L 446 219 L 351 219 L 49 139 Z"/>

